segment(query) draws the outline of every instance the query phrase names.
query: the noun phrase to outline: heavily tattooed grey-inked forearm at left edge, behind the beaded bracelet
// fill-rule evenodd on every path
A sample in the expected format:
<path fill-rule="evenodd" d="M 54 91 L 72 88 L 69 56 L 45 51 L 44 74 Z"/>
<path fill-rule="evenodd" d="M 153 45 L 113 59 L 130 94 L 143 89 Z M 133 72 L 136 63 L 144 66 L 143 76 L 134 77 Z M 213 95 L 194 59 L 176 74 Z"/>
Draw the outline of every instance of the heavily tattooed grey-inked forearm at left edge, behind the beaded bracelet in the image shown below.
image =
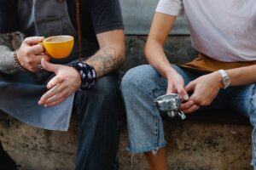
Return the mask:
<path fill-rule="evenodd" d="M 19 68 L 15 65 L 14 49 L 12 45 L 13 34 L 0 34 L 0 71 L 4 73 L 13 73 Z"/>

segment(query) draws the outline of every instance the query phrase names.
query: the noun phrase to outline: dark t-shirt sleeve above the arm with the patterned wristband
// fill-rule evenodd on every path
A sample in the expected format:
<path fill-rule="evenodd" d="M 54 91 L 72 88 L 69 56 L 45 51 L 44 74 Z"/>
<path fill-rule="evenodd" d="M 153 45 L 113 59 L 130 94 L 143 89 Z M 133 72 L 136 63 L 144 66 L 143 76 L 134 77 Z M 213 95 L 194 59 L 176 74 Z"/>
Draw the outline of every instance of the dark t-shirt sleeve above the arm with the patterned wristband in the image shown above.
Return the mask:
<path fill-rule="evenodd" d="M 90 15 L 96 34 L 124 29 L 119 0 L 90 0 Z"/>

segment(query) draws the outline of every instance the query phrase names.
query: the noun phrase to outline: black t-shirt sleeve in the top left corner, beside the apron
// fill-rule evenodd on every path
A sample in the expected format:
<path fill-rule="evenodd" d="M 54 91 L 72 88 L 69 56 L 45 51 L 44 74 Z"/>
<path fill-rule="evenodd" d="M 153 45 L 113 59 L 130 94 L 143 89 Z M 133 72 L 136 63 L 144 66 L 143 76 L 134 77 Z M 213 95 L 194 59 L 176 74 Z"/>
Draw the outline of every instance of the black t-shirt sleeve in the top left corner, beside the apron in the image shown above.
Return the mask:
<path fill-rule="evenodd" d="M 0 33 L 18 30 L 16 0 L 0 0 Z"/>

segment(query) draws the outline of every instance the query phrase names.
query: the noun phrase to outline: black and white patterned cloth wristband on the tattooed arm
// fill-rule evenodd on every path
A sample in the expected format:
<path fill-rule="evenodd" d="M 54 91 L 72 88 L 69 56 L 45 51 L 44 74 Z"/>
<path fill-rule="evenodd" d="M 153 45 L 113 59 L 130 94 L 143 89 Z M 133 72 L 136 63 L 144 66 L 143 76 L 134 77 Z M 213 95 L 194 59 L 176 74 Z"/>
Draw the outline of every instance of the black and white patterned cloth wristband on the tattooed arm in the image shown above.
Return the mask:
<path fill-rule="evenodd" d="M 82 62 L 77 62 L 72 64 L 73 68 L 79 71 L 81 77 L 81 87 L 79 90 L 88 90 L 91 88 L 96 82 L 96 71 L 95 69 Z"/>

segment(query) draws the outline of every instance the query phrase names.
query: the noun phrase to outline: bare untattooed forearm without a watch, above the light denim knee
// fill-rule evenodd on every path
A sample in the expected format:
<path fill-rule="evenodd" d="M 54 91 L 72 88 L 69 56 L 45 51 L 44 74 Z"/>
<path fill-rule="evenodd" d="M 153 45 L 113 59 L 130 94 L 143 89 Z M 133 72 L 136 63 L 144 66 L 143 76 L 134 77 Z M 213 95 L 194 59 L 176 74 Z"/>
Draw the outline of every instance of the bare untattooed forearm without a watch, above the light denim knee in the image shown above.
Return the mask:
<path fill-rule="evenodd" d="M 145 55 L 148 63 L 160 72 L 163 77 L 168 77 L 174 69 L 166 58 L 163 45 L 159 42 L 148 40 L 145 46 Z"/>

